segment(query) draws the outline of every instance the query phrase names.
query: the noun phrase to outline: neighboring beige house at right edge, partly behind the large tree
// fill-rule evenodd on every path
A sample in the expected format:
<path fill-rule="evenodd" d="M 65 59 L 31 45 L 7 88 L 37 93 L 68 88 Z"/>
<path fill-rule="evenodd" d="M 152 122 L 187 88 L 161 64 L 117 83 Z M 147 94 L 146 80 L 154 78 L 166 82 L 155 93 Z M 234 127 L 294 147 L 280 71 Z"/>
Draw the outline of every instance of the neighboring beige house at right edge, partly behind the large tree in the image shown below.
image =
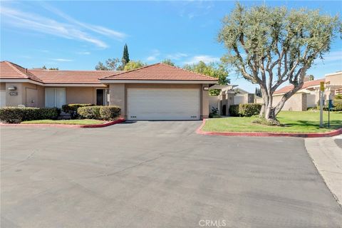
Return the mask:
<path fill-rule="evenodd" d="M 324 82 L 326 90 L 324 91 L 324 100 L 333 100 L 336 94 L 342 94 L 342 71 L 326 74 L 325 78 L 309 81 L 309 77 L 304 78 L 303 87 L 294 95 L 286 100 L 282 110 L 304 111 L 308 108 L 316 107 L 319 101 L 319 86 Z M 284 93 L 294 88 L 285 86 L 276 90 L 273 95 L 273 103 L 277 104 Z"/>

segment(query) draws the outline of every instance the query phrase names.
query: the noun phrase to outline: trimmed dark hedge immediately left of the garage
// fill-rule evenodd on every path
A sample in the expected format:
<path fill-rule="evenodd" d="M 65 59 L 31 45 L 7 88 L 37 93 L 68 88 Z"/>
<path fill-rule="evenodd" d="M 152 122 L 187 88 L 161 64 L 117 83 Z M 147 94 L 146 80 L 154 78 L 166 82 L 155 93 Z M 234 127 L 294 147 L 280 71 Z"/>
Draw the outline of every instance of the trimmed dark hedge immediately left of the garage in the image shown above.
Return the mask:
<path fill-rule="evenodd" d="M 118 106 L 88 106 L 78 108 L 77 113 L 85 119 L 113 120 L 120 116 L 121 109 Z"/>

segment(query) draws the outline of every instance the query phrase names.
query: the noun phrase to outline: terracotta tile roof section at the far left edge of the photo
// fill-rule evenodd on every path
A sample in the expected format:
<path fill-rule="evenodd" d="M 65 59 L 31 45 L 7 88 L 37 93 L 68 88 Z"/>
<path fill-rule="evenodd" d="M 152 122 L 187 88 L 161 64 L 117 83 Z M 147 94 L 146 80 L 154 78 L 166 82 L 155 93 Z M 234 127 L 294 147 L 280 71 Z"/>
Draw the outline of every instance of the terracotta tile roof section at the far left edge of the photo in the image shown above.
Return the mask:
<path fill-rule="evenodd" d="M 9 61 L 0 62 L 0 78 L 1 79 L 31 79 L 33 81 L 42 82 L 33 73 Z"/>

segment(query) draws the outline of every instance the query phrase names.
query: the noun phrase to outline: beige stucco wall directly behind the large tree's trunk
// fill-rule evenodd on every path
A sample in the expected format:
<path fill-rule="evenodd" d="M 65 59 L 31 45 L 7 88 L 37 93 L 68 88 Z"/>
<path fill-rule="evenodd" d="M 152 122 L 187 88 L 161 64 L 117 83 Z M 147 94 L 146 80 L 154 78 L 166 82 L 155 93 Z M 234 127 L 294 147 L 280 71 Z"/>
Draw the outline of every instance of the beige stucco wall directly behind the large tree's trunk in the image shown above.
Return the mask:
<path fill-rule="evenodd" d="M 279 103 L 283 95 L 274 95 L 273 104 Z M 307 110 L 307 98 L 306 93 L 296 93 L 286 100 L 282 110 L 286 111 L 306 111 Z"/>

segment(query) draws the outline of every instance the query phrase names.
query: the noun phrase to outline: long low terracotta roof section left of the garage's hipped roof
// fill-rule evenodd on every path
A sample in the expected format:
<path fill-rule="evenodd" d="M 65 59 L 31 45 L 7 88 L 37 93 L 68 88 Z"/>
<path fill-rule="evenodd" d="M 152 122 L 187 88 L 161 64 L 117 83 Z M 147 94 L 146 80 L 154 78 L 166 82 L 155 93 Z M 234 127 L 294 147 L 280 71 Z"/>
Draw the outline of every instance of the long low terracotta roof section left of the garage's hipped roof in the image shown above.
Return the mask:
<path fill-rule="evenodd" d="M 100 84 L 98 78 L 113 76 L 122 71 L 55 71 L 43 69 L 30 69 L 43 83 L 78 83 L 78 84 Z"/>

